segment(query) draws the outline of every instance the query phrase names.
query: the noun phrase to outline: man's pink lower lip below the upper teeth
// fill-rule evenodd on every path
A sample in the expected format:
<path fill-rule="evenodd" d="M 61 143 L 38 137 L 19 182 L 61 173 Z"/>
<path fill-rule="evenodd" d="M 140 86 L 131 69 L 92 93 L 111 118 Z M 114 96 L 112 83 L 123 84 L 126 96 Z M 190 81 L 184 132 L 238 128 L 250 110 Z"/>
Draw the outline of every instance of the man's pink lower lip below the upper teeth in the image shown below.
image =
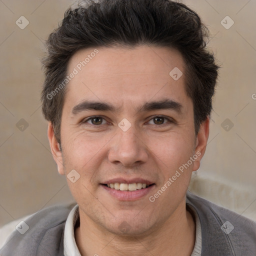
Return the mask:
<path fill-rule="evenodd" d="M 110 193 L 111 196 L 117 198 L 118 200 L 122 201 L 133 201 L 136 199 L 139 199 L 146 194 L 148 194 L 154 187 L 153 185 L 150 185 L 146 188 L 134 190 L 134 191 L 121 191 L 114 188 L 110 188 L 108 186 L 100 184 L 108 193 Z"/>

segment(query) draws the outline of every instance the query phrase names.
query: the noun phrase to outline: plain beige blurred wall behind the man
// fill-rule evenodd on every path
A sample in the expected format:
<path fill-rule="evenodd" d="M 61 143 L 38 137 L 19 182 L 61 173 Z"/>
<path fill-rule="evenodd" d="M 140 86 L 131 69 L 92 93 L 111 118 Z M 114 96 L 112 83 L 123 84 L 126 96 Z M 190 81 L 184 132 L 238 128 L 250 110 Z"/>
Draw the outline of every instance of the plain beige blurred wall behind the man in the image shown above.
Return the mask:
<path fill-rule="evenodd" d="M 239 212 L 246 215 L 246 211 L 256 208 L 256 1 L 182 2 L 196 10 L 208 25 L 212 37 L 209 47 L 222 65 L 208 147 L 197 172 L 200 177 L 248 190 L 250 199 Z M 50 154 L 47 122 L 39 100 L 43 40 L 72 3 L 0 1 L 0 226 L 42 207 L 72 200 Z M 229 29 L 220 23 L 227 15 L 234 21 Z M 16 20 L 19 26 L 25 24 L 24 18 L 20 24 L 20 16 L 29 21 L 24 29 L 15 24 Z M 226 27 L 231 24 L 230 19 L 223 22 Z M 25 122 L 18 123 L 21 118 Z M 24 125 L 23 131 L 17 123 L 20 129 Z M 217 186 L 211 189 L 214 193 Z M 197 186 L 200 191 L 202 196 L 210 197 Z"/>

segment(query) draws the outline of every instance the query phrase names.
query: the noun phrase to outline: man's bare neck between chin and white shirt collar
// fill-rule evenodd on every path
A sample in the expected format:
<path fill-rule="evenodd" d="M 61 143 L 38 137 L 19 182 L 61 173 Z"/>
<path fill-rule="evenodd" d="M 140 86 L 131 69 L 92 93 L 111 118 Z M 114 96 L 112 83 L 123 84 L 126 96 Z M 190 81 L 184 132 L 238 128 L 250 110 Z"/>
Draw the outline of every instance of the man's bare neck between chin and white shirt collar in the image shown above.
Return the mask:
<path fill-rule="evenodd" d="M 191 214 L 176 211 L 160 226 L 141 235 L 117 235 L 98 225 L 79 209 L 80 226 L 75 229 L 75 241 L 82 256 L 86 255 L 168 255 L 189 256 L 195 241 L 195 224 Z M 183 214 L 181 213 L 183 212 Z"/>

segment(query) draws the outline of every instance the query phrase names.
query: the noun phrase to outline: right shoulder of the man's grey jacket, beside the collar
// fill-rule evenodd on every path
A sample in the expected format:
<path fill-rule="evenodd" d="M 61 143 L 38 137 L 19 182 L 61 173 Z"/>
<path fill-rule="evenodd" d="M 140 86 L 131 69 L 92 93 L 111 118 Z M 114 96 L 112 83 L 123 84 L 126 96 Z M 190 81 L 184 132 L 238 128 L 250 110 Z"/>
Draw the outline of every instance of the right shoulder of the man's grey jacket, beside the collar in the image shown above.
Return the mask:
<path fill-rule="evenodd" d="M 192 206 L 199 216 L 202 249 L 209 255 L 218 255 L 216 251 L 219 255 L 256 254 L 256 222 L 189 191 L 186 203 Z"/>

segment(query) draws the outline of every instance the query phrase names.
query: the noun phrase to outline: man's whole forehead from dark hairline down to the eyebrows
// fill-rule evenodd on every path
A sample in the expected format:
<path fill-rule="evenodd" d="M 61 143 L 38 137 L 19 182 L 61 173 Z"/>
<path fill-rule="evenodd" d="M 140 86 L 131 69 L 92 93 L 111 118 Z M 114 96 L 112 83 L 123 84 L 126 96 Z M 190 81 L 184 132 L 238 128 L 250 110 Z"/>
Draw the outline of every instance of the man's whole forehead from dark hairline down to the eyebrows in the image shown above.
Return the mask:
<path fill-rule="evenodd" d="M 68 62 L 67 74 L 72 72 L 75 75 L 67 84 L 66 98 L 73 104 L 91 98 L 121 105 L 168 95 L 180 101 L 186 96 L 182 56 L 167 47 L 82 49 Z"/>

